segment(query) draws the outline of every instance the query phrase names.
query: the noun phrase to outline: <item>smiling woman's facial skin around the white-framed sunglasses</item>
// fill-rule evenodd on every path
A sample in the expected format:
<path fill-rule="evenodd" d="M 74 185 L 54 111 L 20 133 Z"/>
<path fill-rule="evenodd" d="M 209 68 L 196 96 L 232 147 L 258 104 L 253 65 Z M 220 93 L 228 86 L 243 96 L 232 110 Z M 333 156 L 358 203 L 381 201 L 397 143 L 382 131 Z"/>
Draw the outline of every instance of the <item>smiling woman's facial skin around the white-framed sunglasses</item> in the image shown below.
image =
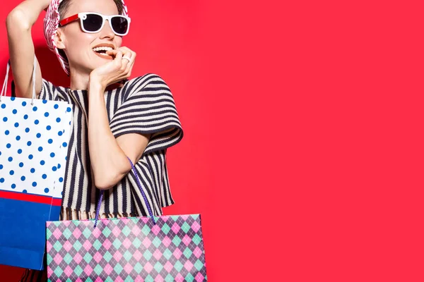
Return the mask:
<path fill-rule="evenodd" d="M 68 10 L 65 15 L 61 15 L 61 19 L 82 12 L 96 12 L 110 16 L 117 15 L 118 8 L 113 0 L 71 0 Z M 64 47 L 71 73 L 76 71 L 89 74 L 95 68 L 112 60 L 111 56 L 101 55 L 94 51 L 95 47 L 106 46 L 116 49 L 122 44 L 122 37 L 114 35 L 107 22 L 100 32 L 86 33 L 81 29 L 78 19 L 64 27 L 59 27 L 59 33 L 62 44 L 58 44 L 58 48 Z"/>

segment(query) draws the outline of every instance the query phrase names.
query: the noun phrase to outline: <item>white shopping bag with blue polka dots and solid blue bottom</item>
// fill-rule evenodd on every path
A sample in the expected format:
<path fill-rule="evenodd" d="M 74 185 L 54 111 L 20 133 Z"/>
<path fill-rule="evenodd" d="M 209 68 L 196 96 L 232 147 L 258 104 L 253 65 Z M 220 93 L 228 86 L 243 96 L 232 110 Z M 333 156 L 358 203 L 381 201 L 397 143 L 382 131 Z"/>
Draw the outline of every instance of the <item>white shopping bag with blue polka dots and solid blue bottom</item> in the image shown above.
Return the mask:
<path fill-rule="evenodd" d="M 35 99 L 34 79 L 33 99 L 3 96 L 7 80 L 0 95 L 0 264 L 41 270 L 46 221 L 59 219 L 72 109 Z"/>

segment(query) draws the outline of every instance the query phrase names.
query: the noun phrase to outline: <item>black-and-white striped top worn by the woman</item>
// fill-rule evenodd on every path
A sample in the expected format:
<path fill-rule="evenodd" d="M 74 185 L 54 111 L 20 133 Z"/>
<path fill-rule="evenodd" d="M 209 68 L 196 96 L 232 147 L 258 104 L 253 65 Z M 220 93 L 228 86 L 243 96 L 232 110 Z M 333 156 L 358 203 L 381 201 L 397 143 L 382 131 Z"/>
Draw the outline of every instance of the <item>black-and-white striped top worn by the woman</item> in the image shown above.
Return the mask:
<path fill-rule="evenodd" d="M 100 190 L 95 188 L 90 168 L 87 91 L 57 87 L 43 80 L 40 99 L 66 101 L 73 108 L 61 220 L 91 219 Z M 162 207 L 174 203 L 167 176 L 166 150 L 183 136 L 169 87 L 158 75 L 143 75 L 127 80 L 122 87 L 106 91 L 105 104 L 114 137 L 126 133 L 151 134 L 146 150 L 135 166 L 153 214 L 162 214 Z M 105 191 L 100 214 L 102 217 L 148 215 L 133 171 L 114 188 Z"/>

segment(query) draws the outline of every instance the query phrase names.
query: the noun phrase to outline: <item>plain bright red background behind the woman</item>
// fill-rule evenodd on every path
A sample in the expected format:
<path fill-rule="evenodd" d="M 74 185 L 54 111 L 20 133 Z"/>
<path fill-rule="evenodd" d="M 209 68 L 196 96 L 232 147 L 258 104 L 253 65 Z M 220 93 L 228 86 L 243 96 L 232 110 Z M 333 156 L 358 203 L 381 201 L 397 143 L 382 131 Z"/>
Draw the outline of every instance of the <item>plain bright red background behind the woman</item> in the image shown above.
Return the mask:
<path fill-rule="evenodd" d="M 209 281 L 424 280 L 423 1 L 126 2 L 185 130 L 165 213 L 202 214 Z"/>

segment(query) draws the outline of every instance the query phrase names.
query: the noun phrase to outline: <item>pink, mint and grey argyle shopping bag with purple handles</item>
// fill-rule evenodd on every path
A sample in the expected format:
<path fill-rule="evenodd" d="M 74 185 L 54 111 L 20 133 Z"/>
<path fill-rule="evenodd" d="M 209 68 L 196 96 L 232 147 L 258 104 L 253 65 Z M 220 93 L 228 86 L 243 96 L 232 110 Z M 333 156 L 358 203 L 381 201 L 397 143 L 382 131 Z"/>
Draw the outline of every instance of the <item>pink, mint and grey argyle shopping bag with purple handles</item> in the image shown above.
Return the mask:
<path fill-rule="evenodd" d="M 49 281 L 207 281 L 201 216 L 153 216 L 143 198 L 150 217 L 47 222 Z"/>

